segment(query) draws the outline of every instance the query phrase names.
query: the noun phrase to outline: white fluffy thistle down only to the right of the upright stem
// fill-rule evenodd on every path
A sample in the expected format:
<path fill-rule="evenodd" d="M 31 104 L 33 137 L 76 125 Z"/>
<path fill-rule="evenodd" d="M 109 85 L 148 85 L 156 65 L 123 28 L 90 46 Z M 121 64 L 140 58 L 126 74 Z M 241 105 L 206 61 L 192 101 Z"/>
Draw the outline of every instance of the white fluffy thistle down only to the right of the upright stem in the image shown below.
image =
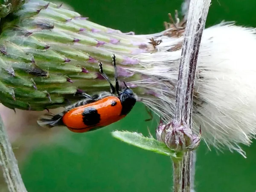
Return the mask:
<path fill-rule="evenodd" d="M 205 30 L 195 92 L 202 100 L 194 116 L 212 144 L 249 144 L 256 134 L 256 30 L 218 25 Z M 218 145 L 217 145 L 218 146 Z"/>

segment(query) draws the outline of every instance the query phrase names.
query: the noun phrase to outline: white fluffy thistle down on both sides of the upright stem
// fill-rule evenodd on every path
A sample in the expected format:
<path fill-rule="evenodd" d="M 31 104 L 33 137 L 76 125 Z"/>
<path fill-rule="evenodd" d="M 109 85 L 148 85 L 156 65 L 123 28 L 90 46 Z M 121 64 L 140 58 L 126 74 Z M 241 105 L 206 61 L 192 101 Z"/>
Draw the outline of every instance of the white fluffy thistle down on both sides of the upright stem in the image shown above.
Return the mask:
<path fill-rule="evenodd" d="M 140 35 L 161 39 L 154 54 L 142 53 L 136 57 L 145 67 L 129 69 L 152 76 L 152 79 L 132 82 L 145 84 L 160 99 L 142 98 L 163 119 L 172 119 L 183 37 Z M 205 141 L 220 149 L 227 146 L 242 155 L 238 145 L 249 145 L 256 134 L 256 29 L 221 23 L 204 30 L 198 57 L 194 89 L 193 129 Z M 157 77 L 157 81 L 154 78 Z"/>

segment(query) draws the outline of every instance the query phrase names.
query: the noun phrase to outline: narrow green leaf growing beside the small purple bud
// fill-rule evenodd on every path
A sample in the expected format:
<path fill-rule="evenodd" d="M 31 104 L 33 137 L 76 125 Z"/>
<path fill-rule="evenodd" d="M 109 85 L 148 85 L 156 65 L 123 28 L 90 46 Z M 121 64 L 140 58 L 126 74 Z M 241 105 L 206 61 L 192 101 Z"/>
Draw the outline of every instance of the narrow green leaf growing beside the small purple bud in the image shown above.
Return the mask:
<path fill-rule="evenodd" d="M 112 135 L 116 139 L 143 148 L 145 150 L 176 157 L 175 151 L 169 149 L 164 143 L 155 140 L 153 137 L 144 137 L 140 133 L 132 133 L 129 131 L 113 131 Z"/>

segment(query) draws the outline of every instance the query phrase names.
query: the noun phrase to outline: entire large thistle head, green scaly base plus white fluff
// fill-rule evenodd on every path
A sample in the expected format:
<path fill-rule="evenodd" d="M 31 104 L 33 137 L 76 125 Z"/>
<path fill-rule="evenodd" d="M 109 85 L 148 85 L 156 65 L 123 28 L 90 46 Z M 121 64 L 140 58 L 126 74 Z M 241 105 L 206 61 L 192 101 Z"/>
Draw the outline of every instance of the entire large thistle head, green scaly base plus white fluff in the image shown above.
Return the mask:
<path fill-rule="evenodd" d="M 22 3 L 20 3 L 22 5 Z M 1 18 L 0 102 L 32 111 L 66 106 L 77 92 L 108 90 L 98 63 L 113 79 L 116 55 L 120 84 L 127 82 L 164 121 L 172 119 L 186 22 L 169 15 L 166 30 L 123 33 L 98 25 L 43 0 L 29 0 Z M 238 38 L 239 37 L 239 38 Z M 204 30 L 194 87 L 193 128 L 217 148 L 243 154 L 256 134 L 255 29 L 221 23 Z M 238 48 L 242 47 L 242 49 Z"/>

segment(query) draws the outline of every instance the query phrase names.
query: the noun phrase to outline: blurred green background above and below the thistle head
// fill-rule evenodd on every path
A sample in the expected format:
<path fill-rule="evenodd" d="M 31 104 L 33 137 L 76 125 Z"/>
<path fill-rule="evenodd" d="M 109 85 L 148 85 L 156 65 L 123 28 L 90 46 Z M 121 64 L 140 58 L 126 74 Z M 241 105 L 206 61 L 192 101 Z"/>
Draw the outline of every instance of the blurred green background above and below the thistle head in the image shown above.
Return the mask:
<path fill-rule="evenodd" d="M 90 20 L 136 34 L 163 30 L 168 13 L 181 0 L 64 0 Z M 256 27 L 255 0 L 212 0 L 207 26 L 222 20 Z M 242 47 L 237 47 L 242 49 Z M 122 121 L 85 134 L 66 132 L 62 144 L 41 145 L 29 154 L 22 175 L 29 192 L 169 192 L 172 164 L 169 157 L 144 151 L 111 137 L 112 130 L 154 133 L 156 120 L 145 122 L 141 104 Z M 62 145 L 62 146 L 61 146 Z M 64 147 L 63 147 L 64 146 Z M 256 142 L 238 153 L 212 151 L 202 142 L 198 149 L 197 192 L 255 192 Z"/>

